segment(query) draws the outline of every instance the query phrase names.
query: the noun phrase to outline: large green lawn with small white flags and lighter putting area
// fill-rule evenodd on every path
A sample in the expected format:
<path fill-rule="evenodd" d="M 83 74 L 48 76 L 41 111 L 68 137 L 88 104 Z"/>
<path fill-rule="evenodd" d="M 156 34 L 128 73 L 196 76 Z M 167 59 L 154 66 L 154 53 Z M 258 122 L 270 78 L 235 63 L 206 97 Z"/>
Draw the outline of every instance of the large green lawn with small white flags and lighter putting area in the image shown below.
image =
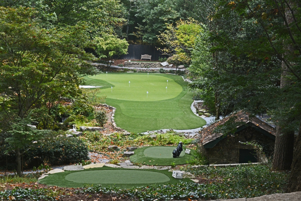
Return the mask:
<path fill-rule="evenodd" d="M 117 126 L 130 132 L 192 129 L 206 124 L 191 111 L 193 93 L 181 76 L 109 72 L 85 79 L 87 85 L 103 86 L 98 96 L 107 96 L 106 103 L 117 108 Z"/>

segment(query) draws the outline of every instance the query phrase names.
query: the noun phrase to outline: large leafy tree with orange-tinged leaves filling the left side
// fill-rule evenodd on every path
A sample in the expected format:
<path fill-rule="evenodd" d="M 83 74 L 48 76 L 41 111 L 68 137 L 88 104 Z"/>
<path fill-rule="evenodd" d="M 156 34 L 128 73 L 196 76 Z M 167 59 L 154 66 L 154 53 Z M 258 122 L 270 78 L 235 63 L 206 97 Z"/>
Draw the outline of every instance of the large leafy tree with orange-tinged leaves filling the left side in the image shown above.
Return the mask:
<path fill-rule="evenodd" d="M 33 8 L 0 7 L 0 129 L 10 144 L 15 139 L 11 125 L 34 112 L 36 121 L 45 120 L 65 97 L 79 96 L 81 76 L 97 73 L 87 62 L 94 57 L 83 49 L 90 46 L 83 27 L 46 30 L 37 14 Z"/>

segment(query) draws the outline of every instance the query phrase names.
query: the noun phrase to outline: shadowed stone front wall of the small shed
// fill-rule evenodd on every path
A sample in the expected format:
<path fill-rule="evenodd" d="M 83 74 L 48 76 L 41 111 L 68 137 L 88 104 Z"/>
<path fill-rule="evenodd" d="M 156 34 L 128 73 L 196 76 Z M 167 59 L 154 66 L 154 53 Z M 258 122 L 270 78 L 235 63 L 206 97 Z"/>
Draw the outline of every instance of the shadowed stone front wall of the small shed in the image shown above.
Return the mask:
<path fill-rule="evenodd" d="M 247 127 L 235 133 L 234 137 L 227 137 L 213 148 L 206 149 L 206 155 L 210 164 L 239 163 L 239 149 L 254 149 L 253 146 L 240 142 L 255 141 L 263 146 L 266 157 L 270 157 L 274 150 L 275 140 L 267 137 L 252 127 Z"/>

